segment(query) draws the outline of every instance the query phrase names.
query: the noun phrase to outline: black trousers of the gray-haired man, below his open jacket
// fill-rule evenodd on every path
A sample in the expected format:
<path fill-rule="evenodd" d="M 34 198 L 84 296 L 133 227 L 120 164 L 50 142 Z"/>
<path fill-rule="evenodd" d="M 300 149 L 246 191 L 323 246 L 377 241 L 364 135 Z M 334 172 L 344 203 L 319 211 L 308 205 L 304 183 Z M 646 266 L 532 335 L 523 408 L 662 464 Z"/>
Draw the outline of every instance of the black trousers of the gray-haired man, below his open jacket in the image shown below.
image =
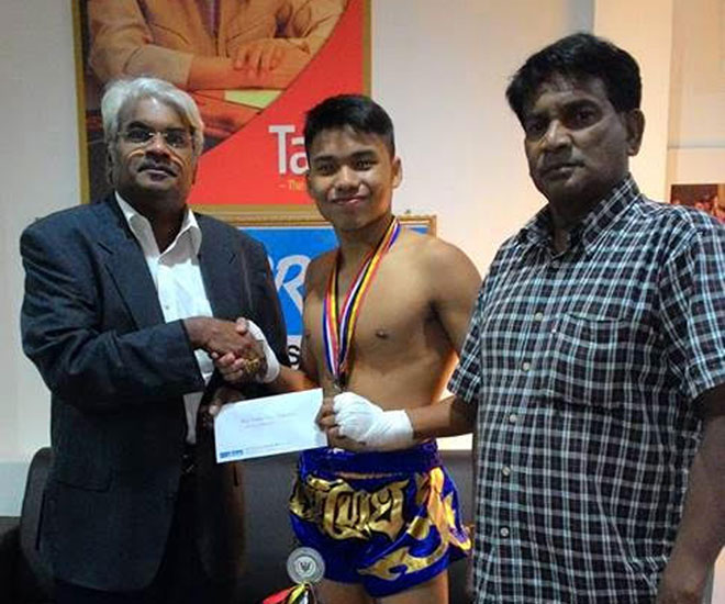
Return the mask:
<path fill-rule="evenodd" d="M 232 585 L 215 583 L 203 571 L 197 546 L 196 477 L 181 478 L 174 519 L 158 573 L 141 591 L 107 592 L 56 580 L 57 604 L 227 604 Z"/>

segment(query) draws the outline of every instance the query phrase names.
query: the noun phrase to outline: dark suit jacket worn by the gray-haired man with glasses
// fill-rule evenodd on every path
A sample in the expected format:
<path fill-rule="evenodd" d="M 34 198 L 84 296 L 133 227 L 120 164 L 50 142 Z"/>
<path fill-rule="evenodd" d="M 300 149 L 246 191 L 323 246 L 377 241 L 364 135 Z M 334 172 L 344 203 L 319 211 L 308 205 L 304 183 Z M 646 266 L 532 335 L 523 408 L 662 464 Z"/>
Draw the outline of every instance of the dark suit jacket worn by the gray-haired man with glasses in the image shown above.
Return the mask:
<path fill-rule="evenodd" d="M 252 318 L 286 359 L 264 246 L 198 215 L 214 316 Z M 204 388 L 180 321 L 165 323 L 141 247 L 112 197 L 35 222 L 21 237 L 25 354 L 52 392 L 54 465 L 42 550 L 58 579 L 97 590 L 146 586 L 166 544 L 186 439 L 182 395 Z M 264 389 L 249 387 L 245 394 Z M 242 558 L 238 468 L 213 463 L 200 434 L 202 560 L 231 579 Z"/>

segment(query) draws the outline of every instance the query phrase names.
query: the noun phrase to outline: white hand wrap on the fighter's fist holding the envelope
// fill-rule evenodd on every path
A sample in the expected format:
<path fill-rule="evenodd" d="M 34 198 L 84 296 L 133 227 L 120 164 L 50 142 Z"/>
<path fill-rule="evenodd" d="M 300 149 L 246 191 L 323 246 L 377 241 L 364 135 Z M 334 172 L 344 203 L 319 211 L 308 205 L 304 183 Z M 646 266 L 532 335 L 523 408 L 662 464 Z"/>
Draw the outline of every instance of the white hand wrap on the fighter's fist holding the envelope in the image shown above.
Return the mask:
<path fill-rule="evenodd" d="M 355 392 L 343 392 L 335 396 L 333 410 L 341 436 L 381 451 L 414 445 L 413 426 L 402 409 L 383 411 Z"/>

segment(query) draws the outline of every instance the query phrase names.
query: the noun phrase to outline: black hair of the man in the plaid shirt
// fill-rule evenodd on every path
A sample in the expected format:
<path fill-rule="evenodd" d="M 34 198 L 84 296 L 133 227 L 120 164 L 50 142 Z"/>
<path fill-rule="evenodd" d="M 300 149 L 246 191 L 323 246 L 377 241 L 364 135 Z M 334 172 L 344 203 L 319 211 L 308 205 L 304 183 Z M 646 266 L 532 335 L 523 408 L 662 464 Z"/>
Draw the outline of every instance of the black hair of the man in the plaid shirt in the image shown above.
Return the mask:
<path fill-rule="evenodd" d="M 572 81 L 599 78 L 616 111 L 639 109 L 642 79 L 634 57 L 609 40 L 577 33 L 542 48 L 514 74 L 506 99 L 520 122 L 539 86 L 557 75 Z"/>

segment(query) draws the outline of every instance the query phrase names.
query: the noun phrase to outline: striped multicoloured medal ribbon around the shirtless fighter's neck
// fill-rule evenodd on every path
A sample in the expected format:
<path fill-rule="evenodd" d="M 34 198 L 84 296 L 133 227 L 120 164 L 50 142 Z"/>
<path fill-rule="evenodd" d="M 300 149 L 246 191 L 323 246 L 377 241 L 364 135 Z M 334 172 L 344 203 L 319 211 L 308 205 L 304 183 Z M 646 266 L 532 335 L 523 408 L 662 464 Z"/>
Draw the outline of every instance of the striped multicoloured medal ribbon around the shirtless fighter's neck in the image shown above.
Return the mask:
<path fill-rule="evenodd" d="M 341 253 L 337 250 L 322 305 L 322 335 L 327 369 L 338 384 L 348 370 L 347 357 L 362 300 L 370 289 L 370 283 L 380 267 L 382 257 L 388 253 L 390 246 L 395 243 L 399 234 L 400 222 L 393 217 L 378 245 L 370 250 L 360 265 L 349 290 L 347 290 L 339 315 L 337 309 L 337 276 L 339 273 Z"/>

